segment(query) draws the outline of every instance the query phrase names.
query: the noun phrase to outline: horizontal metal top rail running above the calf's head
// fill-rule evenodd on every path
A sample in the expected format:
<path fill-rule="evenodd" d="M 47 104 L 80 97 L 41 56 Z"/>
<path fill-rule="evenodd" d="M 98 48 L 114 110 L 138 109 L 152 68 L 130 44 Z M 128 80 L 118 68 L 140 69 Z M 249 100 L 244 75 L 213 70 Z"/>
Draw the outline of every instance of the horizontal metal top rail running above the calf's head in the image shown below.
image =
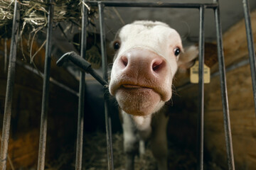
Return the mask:
<path fill-rule="evenodd" d="M 205 8 L 216 8 L 218 5 L 215 3 L 171 3 L 171 2 L 118 2 L 118 1 L 90 1 L 91 6 L 97 6 L 102 4 L 104 6 L 116 6 L 116 7 L 154 7 L 154 8 L 200 8 L 202 5 Z"/>

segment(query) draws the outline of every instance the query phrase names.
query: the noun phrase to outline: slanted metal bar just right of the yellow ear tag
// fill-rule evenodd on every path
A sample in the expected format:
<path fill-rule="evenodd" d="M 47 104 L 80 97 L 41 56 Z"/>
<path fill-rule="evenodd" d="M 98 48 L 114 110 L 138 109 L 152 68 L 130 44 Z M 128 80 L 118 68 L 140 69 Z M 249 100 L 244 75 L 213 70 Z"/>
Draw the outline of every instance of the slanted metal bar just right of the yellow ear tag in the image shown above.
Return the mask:
<path fill-rule="evenodd" d="M 214 1 L 218 3 L 218 0 L 214 0 Z M 216 33 L 217 33 L 218 63 L 219 63 L 219 72 L 220 72 L 220 87 L 221 87 L 221 96 L 222 96 L 222 104 L 223 104 L 223 118 L 224 118 L 225 142 L 226 142 L 227 157 L 228 157 L 228 169 L 234 170 L 235 163 L 234 163 L 233 144 L 232 144 L 232 136 L 231 136 L 231 128 L 230 128 L 228 91 L 227 91 L 226 77 L 225 77 L 223 38 L 221 33 L 219 6 L 218 8 L 215 8 L 214 14 L 215 14 Z"/>

